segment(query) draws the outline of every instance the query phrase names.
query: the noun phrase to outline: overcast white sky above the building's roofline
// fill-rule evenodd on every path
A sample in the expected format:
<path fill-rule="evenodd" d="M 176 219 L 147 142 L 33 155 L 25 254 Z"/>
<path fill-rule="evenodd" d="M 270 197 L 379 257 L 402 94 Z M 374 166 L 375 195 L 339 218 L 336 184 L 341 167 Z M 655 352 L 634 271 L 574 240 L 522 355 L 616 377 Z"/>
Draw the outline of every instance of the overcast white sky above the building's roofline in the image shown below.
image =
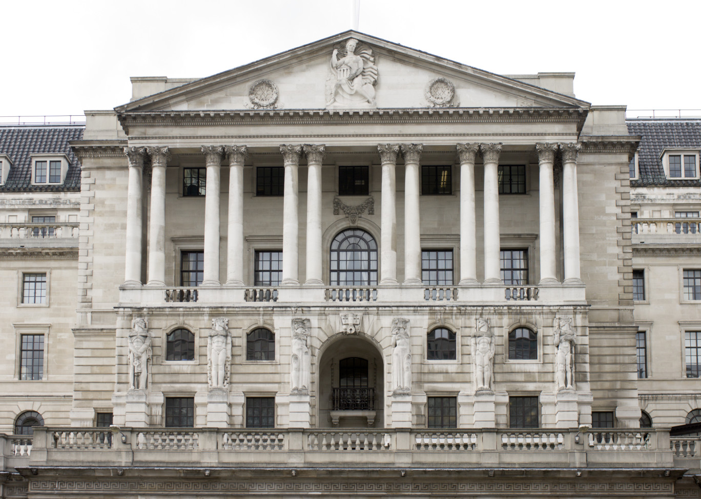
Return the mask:
<path fill-rule="evenodd" d="M 698 0 L 360 2 L 359 31 L 388 41 L 575 71 L 593 104 L 701 109 Z M 353 29 L 353 0 L 0 0 L 0 18 L 0 116 L 81 114 L 128 102 L 130 76 L 209 76 Z"/>

